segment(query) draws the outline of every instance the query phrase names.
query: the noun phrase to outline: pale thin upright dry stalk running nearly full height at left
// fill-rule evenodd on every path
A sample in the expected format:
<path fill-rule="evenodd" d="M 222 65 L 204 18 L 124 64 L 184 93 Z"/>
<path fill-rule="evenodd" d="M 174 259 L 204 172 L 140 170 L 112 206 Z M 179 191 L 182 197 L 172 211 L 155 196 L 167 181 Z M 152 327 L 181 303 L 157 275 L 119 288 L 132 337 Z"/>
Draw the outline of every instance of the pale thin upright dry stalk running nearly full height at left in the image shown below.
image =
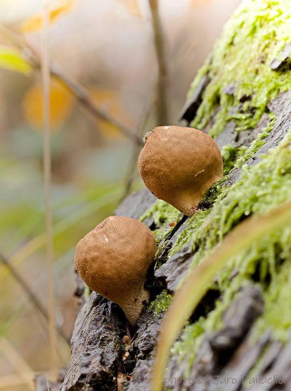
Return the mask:
<path fill-rule="evenodd" d="M 43 171 L 45 188 L 45 225 L 46 225 L 46 264 L 48 285 L 48 328 L 50 365 L 53 379 L 58 376 L 57 364 L 57 330 L 55 321 L 55 291 L 53 273 L 53 234 L 51 209 L 51 146 L 50 146 L 50 59 L 49 59 L 49 8 L 43 0 L 43 31 L 42 31 L 42 113 L 43 113 Z"/>

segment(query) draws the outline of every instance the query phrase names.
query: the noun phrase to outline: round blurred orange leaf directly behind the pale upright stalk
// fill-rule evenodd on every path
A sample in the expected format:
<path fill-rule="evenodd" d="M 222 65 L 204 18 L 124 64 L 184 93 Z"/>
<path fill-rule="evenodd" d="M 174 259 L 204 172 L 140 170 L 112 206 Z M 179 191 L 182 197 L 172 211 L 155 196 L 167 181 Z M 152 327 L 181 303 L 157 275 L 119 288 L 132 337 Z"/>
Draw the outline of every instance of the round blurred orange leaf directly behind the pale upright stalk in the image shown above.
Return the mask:
<path fill-rule="evenodd" d="M 51 79 L 50 125 L 56 129 L 68 118 L 75 102 L 75 96 L 58 79 Z M 23 110 L 27 122 L 38 130 L 42 129 L 42 85 L 30 87 L 23 99 Z"/>

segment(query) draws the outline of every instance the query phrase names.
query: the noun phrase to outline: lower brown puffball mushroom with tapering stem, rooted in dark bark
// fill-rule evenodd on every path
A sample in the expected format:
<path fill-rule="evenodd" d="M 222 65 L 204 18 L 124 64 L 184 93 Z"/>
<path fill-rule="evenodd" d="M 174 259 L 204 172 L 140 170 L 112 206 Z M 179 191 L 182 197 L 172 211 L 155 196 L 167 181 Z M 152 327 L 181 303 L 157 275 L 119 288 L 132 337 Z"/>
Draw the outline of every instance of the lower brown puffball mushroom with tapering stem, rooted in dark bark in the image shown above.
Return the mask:
<path fill-rule="evenodd" d="M 110 216 L 76 248 L 75 266 L 85 284 L 119 304 L 135 326 L 150 293 L 145 281 L 154 266 L 156 239 L 142 222 Z"/>

